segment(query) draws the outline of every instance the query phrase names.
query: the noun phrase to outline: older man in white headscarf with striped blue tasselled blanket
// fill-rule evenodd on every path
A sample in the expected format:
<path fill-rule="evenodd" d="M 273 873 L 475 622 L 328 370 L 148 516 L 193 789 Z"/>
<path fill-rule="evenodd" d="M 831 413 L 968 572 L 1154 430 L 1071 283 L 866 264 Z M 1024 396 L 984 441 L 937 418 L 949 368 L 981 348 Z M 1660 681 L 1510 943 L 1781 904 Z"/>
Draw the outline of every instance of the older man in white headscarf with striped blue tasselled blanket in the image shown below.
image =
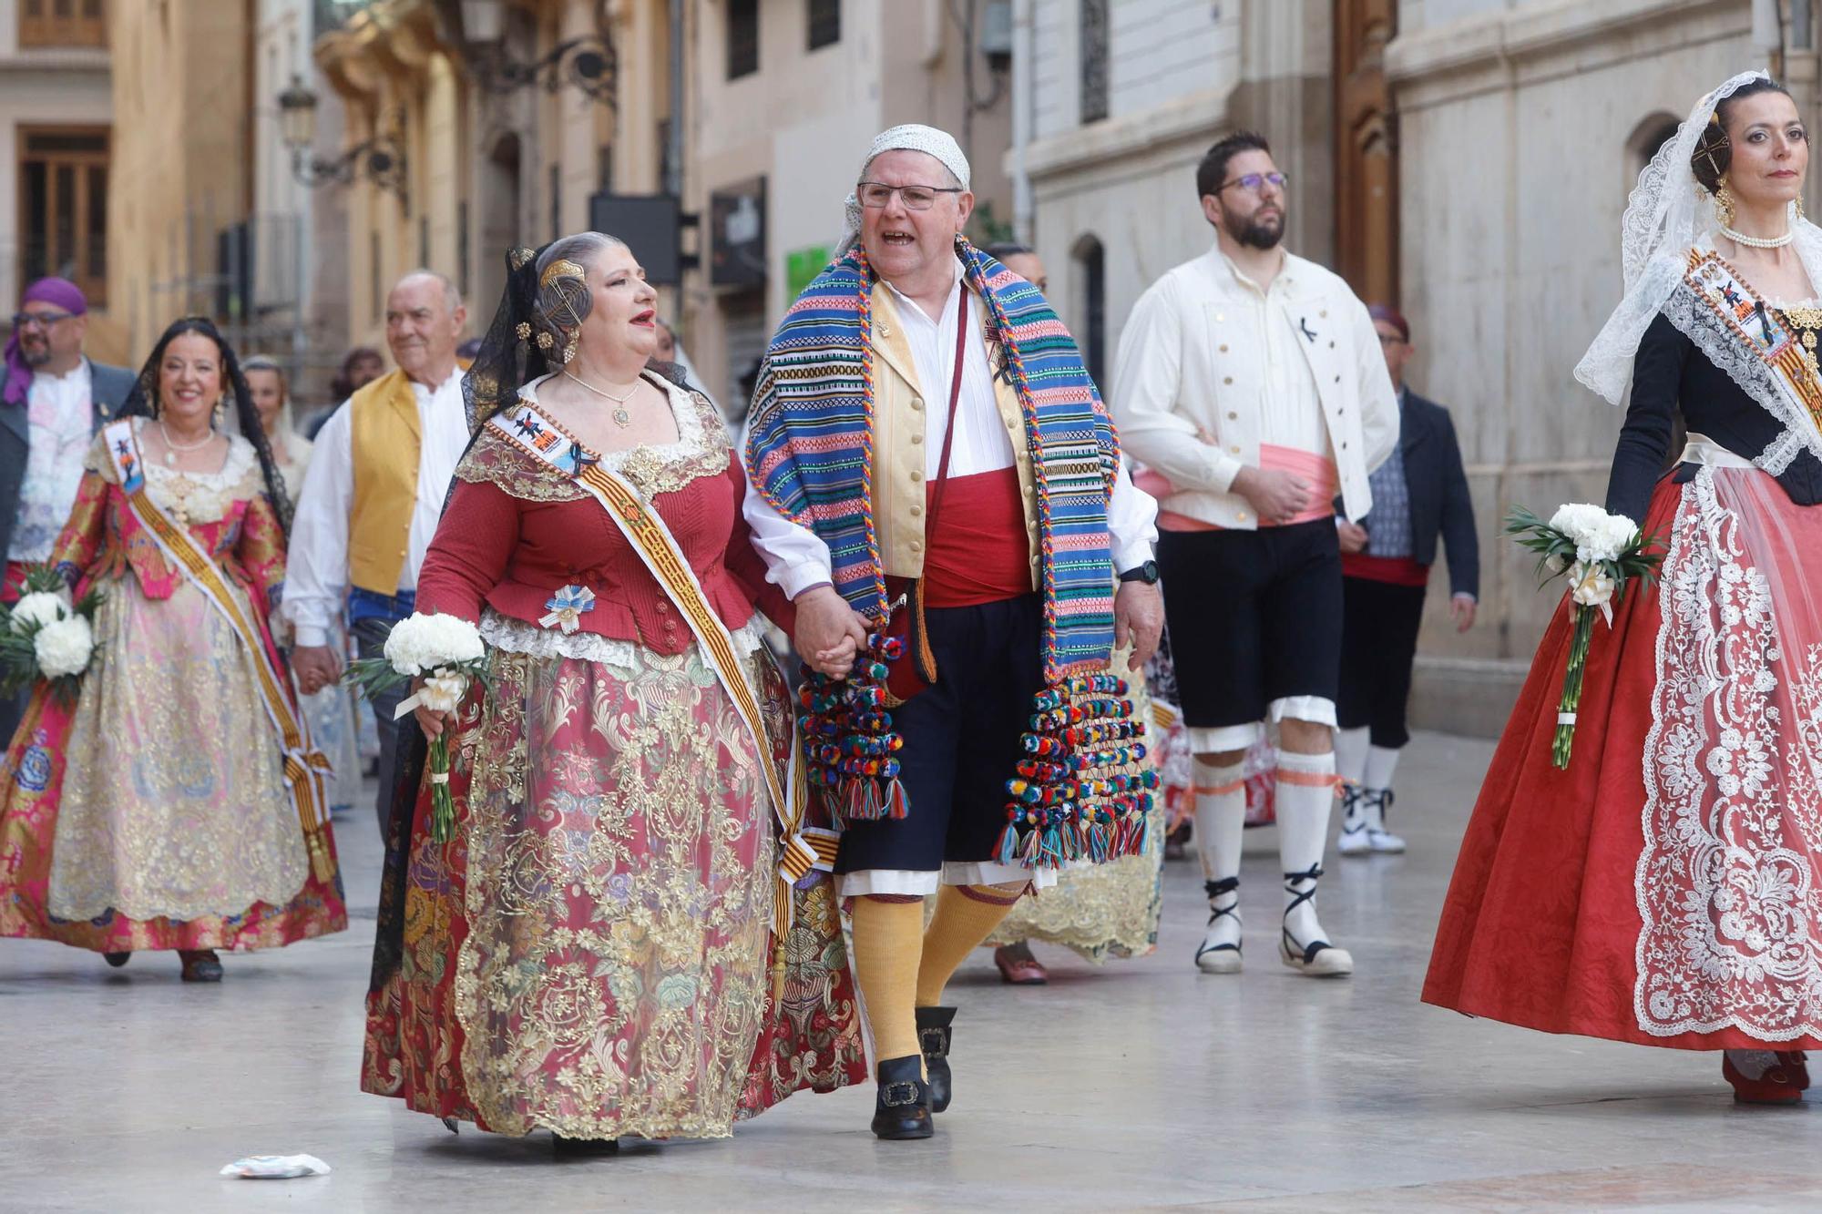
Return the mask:
<path fill-rule="evenodd" d="M 1141 667 L 1162 625 L 1155 503 L 1049 304 L 962 239 L 967 186 L 944 131 L 873 142 L 842 257 L 780 324 L 747 439 L 754 545 L 798 653 L 844 680 L 813 691 L 809 760 L 847 820 L 834 871 L 889 1139 L 929 1137 L 949 1103 L 957 964 L 1033 882 L 1141 838 L 1124 802 L 1075 817 L 1057 787 L 1011 813 L 1033 696 L 1068 704 L 1066 676 L 1104 669 L 1115 636 Z"/>

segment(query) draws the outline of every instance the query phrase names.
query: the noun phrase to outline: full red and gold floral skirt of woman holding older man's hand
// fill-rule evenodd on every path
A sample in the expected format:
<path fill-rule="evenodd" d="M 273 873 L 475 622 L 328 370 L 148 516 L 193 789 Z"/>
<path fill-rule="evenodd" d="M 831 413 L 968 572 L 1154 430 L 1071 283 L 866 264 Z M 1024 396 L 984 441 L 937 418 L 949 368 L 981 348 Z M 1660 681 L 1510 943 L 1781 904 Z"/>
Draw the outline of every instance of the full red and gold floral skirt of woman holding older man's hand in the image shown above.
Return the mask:
<path fill-rule="evenodd" d="M 450 742 L 456 838 L 430 838 L 428 782 L 394 809 L 366 1092 L 503 1134 L 723 1137 L 867 1077 L 827 877 L 773 935 L 773 809 L 732 702 L 696 649 L 494 649 Z M 785 685 L 763 654 L 752 678 L 776 760 Z"/>

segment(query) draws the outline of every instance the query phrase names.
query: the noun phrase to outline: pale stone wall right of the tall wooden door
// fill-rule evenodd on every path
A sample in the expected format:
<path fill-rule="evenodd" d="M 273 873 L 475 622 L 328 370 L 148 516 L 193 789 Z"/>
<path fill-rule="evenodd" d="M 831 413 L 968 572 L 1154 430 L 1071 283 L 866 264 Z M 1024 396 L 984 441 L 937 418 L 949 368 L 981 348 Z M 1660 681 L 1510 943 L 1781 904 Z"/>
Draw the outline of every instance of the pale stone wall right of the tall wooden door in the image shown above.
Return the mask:
<path fill-rule="evenodd" d="M 1704 89 L 1747 67 L 1789 77 L 1817 124 L 1813 40 L 1780 47 L 1778 22 L 1767 36 L 1755 7 L 1399 4 L 1385 73 L 1418 345 L 1408 379 L 1450 406 L 1483 552 L 1474 631 L 1456 634 L 1447 596 L 1430 596 L 1419 722 L 1498 731 L 1556 607 L 1554 587 L 1540 592 L 1532 560 L 1500 536 L 1505 510 L 1605 498 L 1622 416 L 1572 370 L 1620 301 L 1620 215 L 1640 170 Z"/>

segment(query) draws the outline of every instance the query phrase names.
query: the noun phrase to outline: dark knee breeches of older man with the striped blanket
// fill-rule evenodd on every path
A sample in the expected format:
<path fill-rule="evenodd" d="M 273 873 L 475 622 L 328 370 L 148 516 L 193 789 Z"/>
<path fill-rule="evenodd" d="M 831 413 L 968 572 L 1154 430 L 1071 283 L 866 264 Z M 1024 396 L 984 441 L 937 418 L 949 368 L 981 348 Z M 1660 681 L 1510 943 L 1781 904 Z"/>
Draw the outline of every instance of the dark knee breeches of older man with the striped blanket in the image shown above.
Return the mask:
<path fill-rule="evenodd" d="M 924 612 L 937 682 L 893 709 L 904 735 L 904 818 L 851 822 L 834 871 L 940 871 L 982 864 L 1006 829 L 1006 780 L 1024 756 L 1031 696 L 1044 687 L 1037 594 Z"/>

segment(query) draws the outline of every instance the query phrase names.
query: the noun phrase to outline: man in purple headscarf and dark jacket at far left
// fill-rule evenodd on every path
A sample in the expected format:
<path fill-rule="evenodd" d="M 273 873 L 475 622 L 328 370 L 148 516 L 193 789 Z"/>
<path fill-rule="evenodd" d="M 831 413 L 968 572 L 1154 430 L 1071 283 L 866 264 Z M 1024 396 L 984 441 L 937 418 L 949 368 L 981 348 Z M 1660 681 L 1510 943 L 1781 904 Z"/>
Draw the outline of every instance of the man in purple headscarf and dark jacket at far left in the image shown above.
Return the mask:
<path fill-rule="evenodd" d="M 0 602 L 18 600 L 26 565 L 49 560 L 82 481 L 82 458 L 118 414 L 133 372 L 82 355 L 89 301 L 69 279 L 38 279 L 13 314 L 0 368 Z M 24 698 L 0 702 L 0 736 L 18 727 Z"/>

